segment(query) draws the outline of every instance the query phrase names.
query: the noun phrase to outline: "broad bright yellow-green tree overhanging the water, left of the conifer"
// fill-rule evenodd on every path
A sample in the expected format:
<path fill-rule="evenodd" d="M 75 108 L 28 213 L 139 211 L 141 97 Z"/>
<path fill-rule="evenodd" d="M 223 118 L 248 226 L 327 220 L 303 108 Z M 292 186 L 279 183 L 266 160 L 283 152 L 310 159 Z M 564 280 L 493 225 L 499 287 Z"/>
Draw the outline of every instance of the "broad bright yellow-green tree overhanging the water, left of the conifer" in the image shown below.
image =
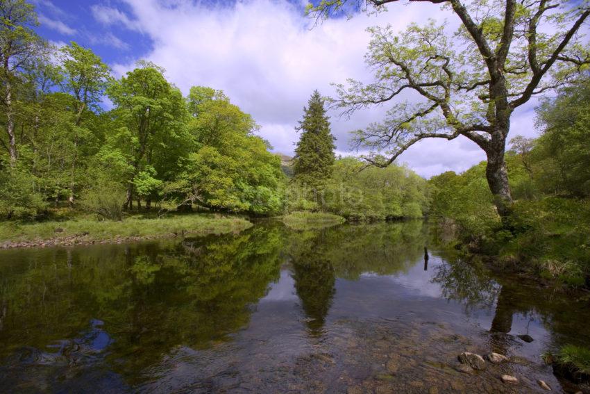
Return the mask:
<path fill-rule="evenodd" d="M 278 213 L 284 179 L 280 158 L 253 134 L 258 126 L 251 115 L 212 88 L 191 88 L 187 101 L 192 150 L 176 183 L 183 201 L 224 211 Z"/>

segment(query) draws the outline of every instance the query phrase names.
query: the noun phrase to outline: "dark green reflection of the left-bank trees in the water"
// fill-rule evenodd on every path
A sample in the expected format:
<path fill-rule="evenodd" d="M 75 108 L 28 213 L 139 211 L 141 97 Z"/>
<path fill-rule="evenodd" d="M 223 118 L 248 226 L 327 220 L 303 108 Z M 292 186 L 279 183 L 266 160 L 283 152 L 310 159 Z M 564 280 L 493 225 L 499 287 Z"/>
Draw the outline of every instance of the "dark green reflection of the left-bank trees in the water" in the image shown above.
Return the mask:
<path fill-rule="evenodd" d="M 253 229 L 183 244 L 40 250 L 25 270 L 15 258 L 0 268 L 8 310 L 0 356 L 43 353 L 99 316 L 113 369 L 133 381 L 177 345 L 208 347 L 247 325 L 251 304 L 278 278 L 282 242 L 280 229 Z"/>

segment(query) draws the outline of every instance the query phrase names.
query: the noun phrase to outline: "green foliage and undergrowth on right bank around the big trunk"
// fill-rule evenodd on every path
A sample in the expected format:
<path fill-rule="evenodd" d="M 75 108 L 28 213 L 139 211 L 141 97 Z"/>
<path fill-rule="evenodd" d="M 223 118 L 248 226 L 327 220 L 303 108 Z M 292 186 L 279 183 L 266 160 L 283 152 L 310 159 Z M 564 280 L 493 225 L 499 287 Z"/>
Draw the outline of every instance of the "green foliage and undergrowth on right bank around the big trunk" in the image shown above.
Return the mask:
<path fill-rule="evenodd" d="M 569 286 L 590 278 L 590 84 L 564 89 L 539 108 L 543 133 L 537 140 L 517 136 L 506 154 L 516 198 L 500 221 L 480 163 L 457 175 L 432 177 L 431 212 L 450 217 L 471 249 Z"/>

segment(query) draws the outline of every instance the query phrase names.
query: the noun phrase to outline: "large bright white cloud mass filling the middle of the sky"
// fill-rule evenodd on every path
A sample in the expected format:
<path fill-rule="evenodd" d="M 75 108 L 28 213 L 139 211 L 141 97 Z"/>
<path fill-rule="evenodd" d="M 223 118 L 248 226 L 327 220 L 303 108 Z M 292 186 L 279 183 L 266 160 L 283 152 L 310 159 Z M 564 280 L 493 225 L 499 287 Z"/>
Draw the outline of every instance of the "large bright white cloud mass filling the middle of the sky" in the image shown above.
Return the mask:
<path fill-rule="evenodd" d="M 151 38 L 153 49 L 144 58 L 167 69 L 167 78 L 187 92 L 192 85 L 224 90 L 262 126 L 260 135 L 275 151 L 292 154 L 298 139 L 294 131 L 303 106 L 314 89 L 333 95 L 330 83 L 348 78 L 370 81 L 364 64 L 369 44 L 366 28 L 391 24 L 402 31 L 410 22 L 428 18 L 458 20 L 431 4 L 395 4 L 379 15 L 330 19 L 314 25 L 299 4 L 272 1 L 237 1 L 211 6 L 188 0 L 124 0 L 131 13 L 94 6 L 96 20 L 141 31 Z M 135 62 L 114 65 L 117 74 Z M 332 112 L 337 150 L 348 151 L 349 131 L 380 120 L 387 106 L 355 113 L 351 118 Z M 527 121 L 523 118 L 523 127 Z M 469 140 L 423 141 L 405 152 L 405 162 L 423 176 L 445 170 L 462 171 L 483 160 Z"/>

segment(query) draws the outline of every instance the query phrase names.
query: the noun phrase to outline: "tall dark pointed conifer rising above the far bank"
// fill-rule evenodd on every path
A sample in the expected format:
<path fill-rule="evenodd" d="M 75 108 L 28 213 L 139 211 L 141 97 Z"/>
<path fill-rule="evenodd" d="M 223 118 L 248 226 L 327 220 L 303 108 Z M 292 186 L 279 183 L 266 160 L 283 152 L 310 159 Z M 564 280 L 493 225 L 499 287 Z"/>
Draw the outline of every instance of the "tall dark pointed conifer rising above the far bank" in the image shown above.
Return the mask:
<path fill-rule="evenodd" d="M 294 177 L 298 181 L 317 185 L 332 174 L 335 138 L 330 133 L 330 122 L 317 90 L 303 111 L 303 120 L 296 127 L 302 133 L 295 149 Z"/>

